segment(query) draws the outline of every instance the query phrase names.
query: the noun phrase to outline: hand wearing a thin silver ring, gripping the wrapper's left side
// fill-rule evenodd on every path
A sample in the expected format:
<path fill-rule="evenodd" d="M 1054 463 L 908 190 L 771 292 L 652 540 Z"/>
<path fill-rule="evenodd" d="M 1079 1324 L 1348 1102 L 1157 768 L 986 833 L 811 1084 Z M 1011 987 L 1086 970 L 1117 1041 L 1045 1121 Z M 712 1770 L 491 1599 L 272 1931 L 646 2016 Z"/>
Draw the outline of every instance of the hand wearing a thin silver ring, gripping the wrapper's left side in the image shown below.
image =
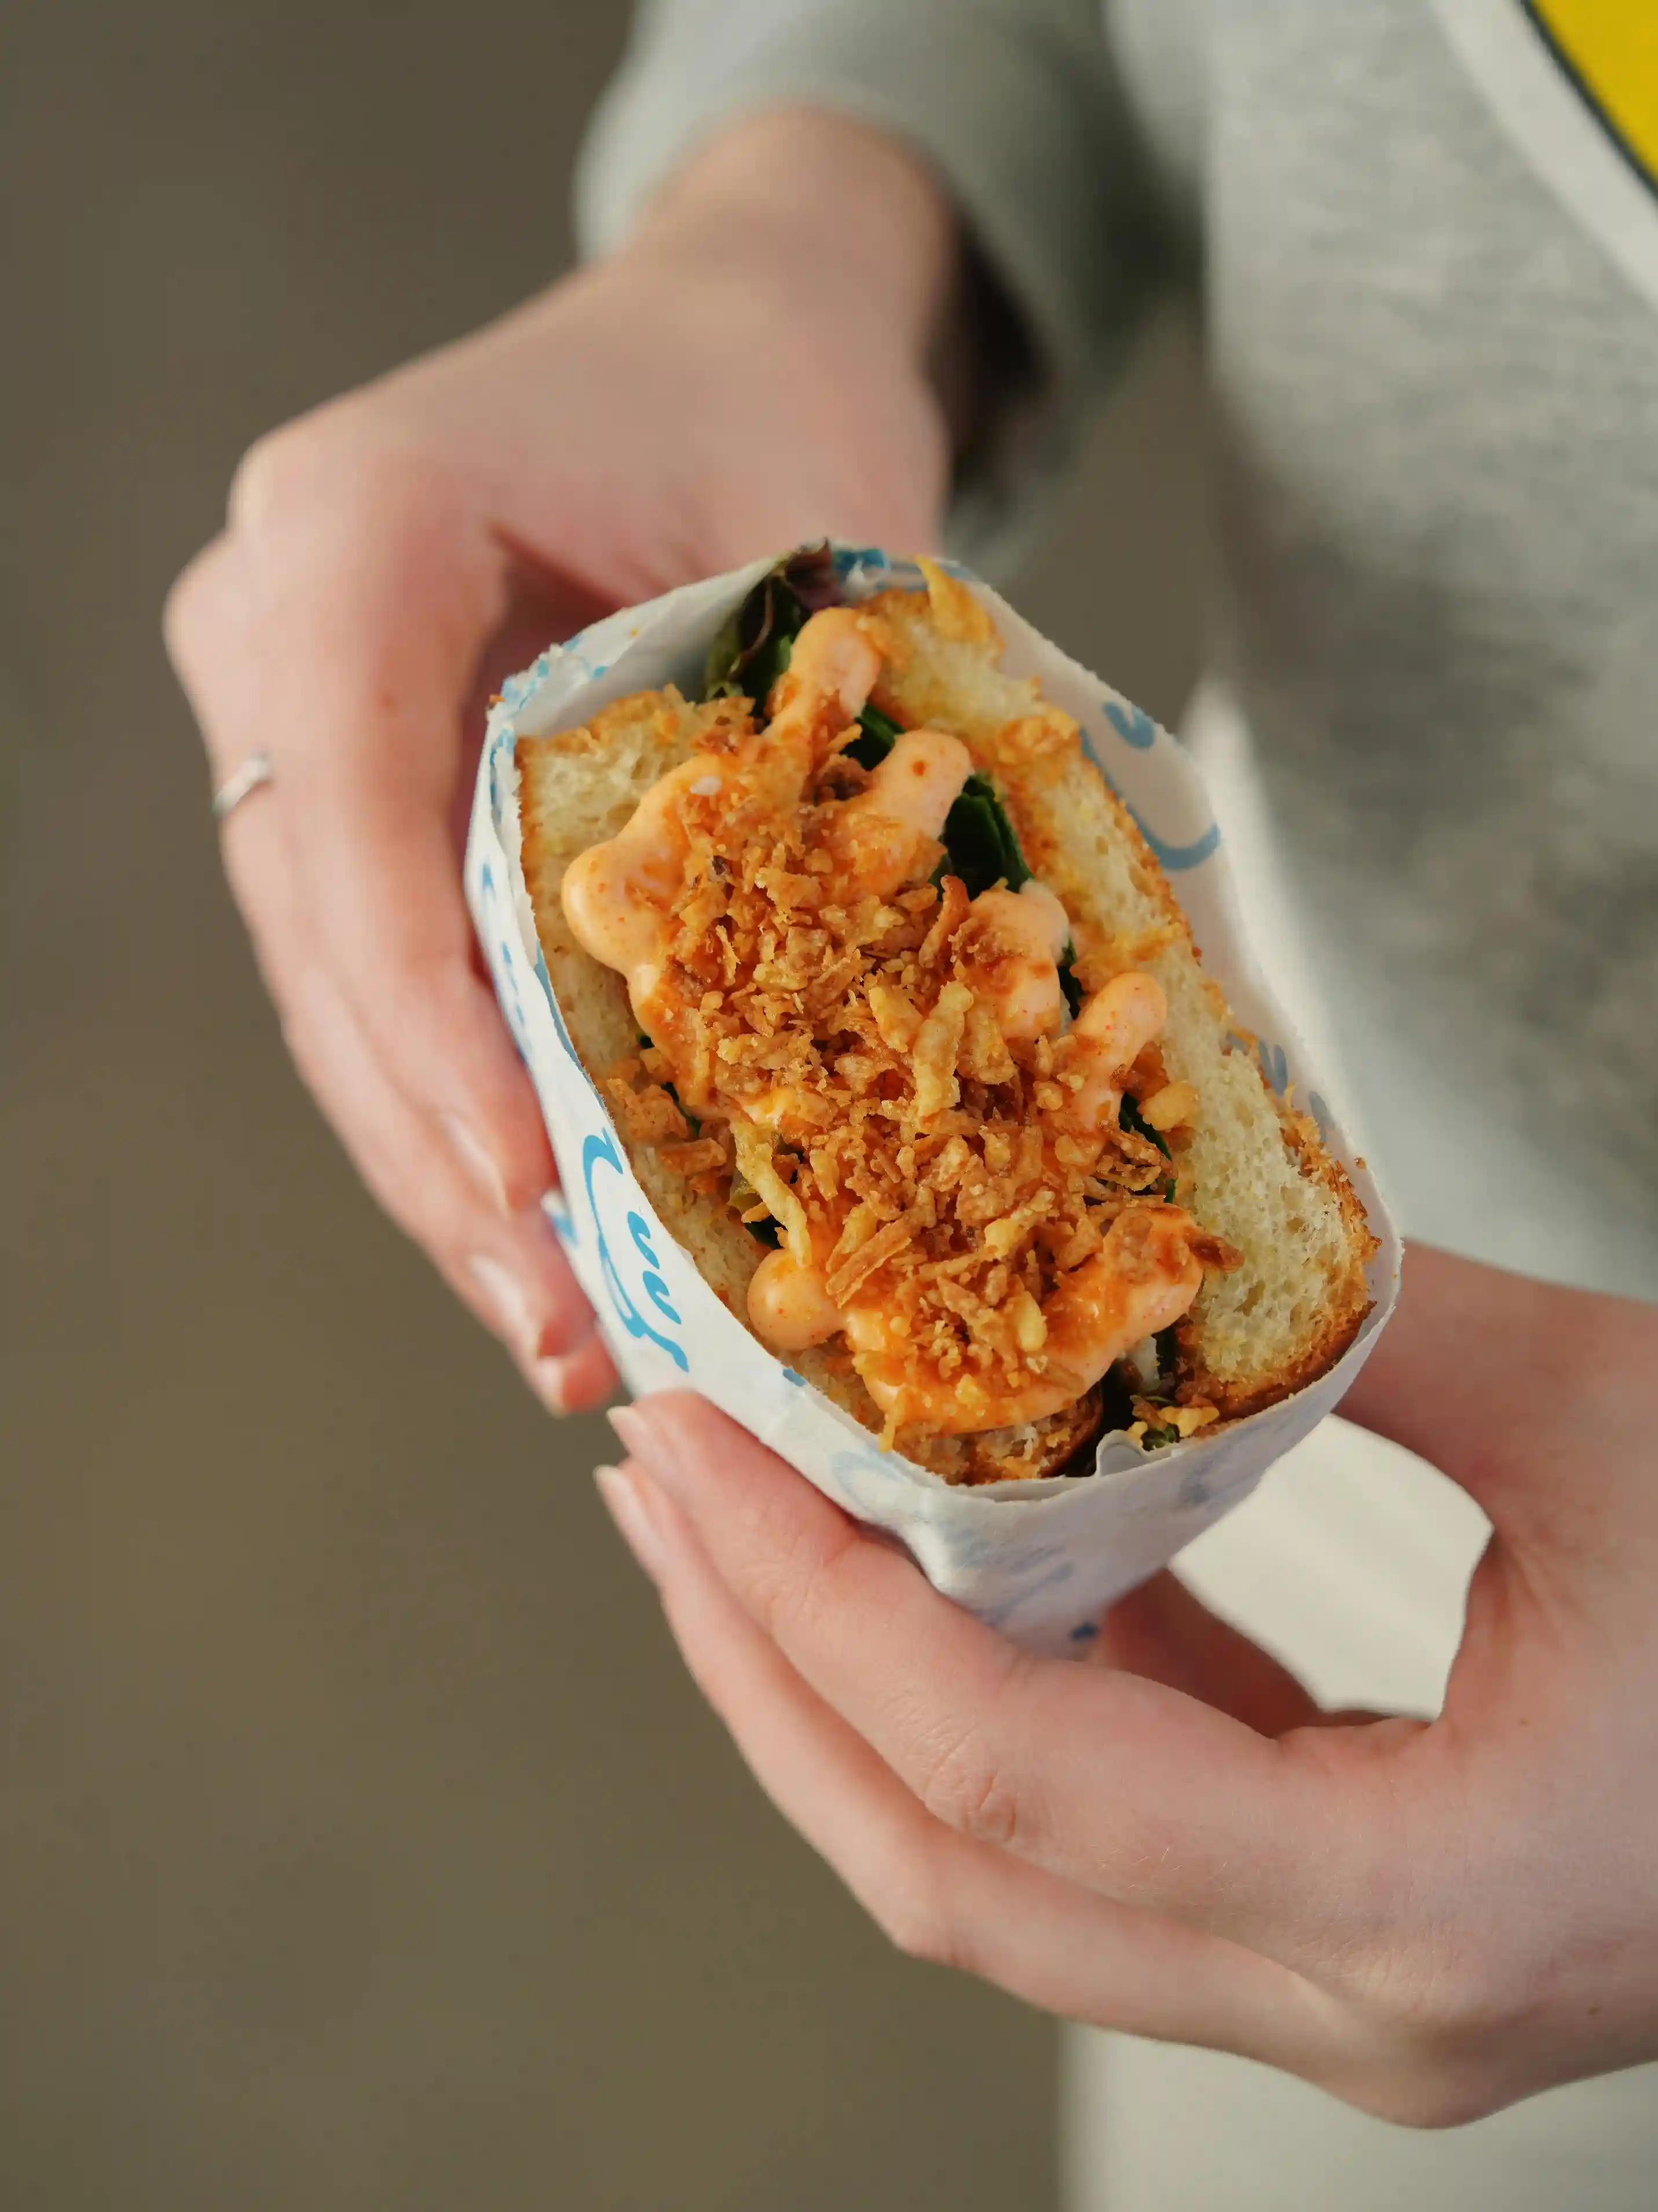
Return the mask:
<path fill-rule="evenodd" d="M 166 633 L 226 867 L 363 1179 L 553 1407 L 613 1385 L 538 1206 L 553 1164 L 472 942 L 487 690 L 593 615 L 799 540 L 934 542 L 954 272 L 925 170 L 755 117 L 620 257 L 252 447 Z"/>

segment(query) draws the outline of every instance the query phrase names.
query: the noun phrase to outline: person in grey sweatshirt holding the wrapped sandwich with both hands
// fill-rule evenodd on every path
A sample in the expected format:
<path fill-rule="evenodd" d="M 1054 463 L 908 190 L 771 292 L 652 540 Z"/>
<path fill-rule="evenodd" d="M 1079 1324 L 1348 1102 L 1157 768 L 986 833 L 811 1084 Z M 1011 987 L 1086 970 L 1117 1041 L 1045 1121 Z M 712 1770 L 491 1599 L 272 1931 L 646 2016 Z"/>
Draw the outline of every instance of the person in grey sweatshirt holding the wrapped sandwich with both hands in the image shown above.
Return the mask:
<path fill-rule="evenodd" d="M 1138 2053 L 1131 2095 L 1206 2115 L 1169 2130 L 1180 2201 L 1275 2203 L 1286 2172 L 1350 2205 L 1647 2201 L 1640 11 L 655 0 L 582 201 L 582 272 L 261 440 L 168 608 L 308 1082 L 531 1387 L 602 1400 L 460 902 L 478 684 L 821 533 L 1005 564 L 1144 305 L 1200 288 L 1224 573 L 1193 737 L 1248 732 L 1417 1239 L 1344 1411 L 1490 1522 L 1443 1712 L 1330 1712 L 1169 1575 L 1107 1663 L 1020 1657 L 697 1400 L 615 1416 L 607 1498 L 761 1783 L 897 1942 L 1158 2039 L 1078 2062 L 1107 2163 Z M 1326 1699 L 1384 1579 L 1339 1553 Z M 1277 1588 L 1293 1648 L 1319 1593 Z M 1408 2132 L 1434 2128 L 1461 2132 Z M 1111 2203 L 1173 2203 L 1171 2174 L 1118 2170 Z"/>

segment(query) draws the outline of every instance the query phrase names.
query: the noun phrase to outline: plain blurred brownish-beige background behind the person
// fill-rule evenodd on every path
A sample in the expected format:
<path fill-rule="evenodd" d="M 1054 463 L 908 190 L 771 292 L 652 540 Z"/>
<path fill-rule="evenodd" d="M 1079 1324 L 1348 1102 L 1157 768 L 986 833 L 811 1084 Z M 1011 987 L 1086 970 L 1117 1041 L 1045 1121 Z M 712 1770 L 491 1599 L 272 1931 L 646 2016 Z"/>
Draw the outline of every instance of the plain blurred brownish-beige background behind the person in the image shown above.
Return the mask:
<path fill-rule="evenodd" d="M 376 1217 L 219 883 L 162 593 L 270 422 L 567 259 L 600 0 L 24 0 L 4 126 L 0 2203 L 952 2212 L 1045 2022 L 888 1955 Z M 1162 325 L 1023 580 L 1164 714 Z"/>

